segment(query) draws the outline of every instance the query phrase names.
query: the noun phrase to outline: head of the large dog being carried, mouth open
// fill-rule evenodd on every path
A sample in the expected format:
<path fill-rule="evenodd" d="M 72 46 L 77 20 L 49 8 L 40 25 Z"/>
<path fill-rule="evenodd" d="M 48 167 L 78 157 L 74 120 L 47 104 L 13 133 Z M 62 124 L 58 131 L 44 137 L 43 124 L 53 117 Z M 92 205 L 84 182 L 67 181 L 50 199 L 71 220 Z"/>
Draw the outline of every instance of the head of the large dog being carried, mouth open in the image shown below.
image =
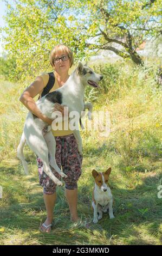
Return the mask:
<path fill-rule="evenodd" d="M 83 86 L 92 86 L 94 88 L 99 87 L 98 83 L 102 80 L 103 76 L 100 74 L 96 74 L 92 69 L 89 68 L 86 64 L 83 65 L 81 62 L 76 68 L 76 74 L 80 76 L 80 80 L 82 81 Z"/>

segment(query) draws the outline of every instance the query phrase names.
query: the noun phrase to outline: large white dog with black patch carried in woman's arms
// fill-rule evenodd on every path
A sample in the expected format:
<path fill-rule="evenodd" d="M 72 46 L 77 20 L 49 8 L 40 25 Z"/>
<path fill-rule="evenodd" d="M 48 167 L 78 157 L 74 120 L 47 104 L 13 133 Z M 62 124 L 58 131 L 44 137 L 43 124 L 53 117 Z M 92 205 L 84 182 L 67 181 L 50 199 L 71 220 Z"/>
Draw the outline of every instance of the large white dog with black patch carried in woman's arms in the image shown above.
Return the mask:
<path fill-rule="evenodd" d="M 36 105 L 42 114 L 53 119 L 52 125 L 62 122 L 62 116 L 53 118 L 53 108 L 56 102 L 68 107 L 69 115 L 64 117 L 64 122 L 68 120 L 70 123 L 70 120 L 73 120 L 73 115 L 70 117 L 70 112 L 75 112 L 78 113 L 77 123 L 79 123 L 79 118 L 81 117 L 83 109 L 86 107 L 89 108 L 89 111 L 92 109 L 92 105 L 84 105 L 86 86 L 90 85 L 97 88 L 97 82 L 101 81 L 102 78 L 102 75 L 96 74 L 91 68 L 80 62 L 62 87 L 41 97 L 41 99 L 36 101 Z M 62 186 L 62 182 L 56 178 L 51 171 L 50 166 L 62 177 L 66 178 L 67 175 L 57 166 L 55 160 L 55 137 L 51 132 L 50 126 L 48 126 L 49 129 L 46 130 L 47 132 L 44 134 L 43 131 L 45 127 L 47 127 L 47 123 L 44 123 L 44 121 L 37 118 L 33 113 L 28 113 L 21 141 L 17 148 L 17 156 L 22 160 L 25 174 L 28 174 L 28 165 L 23 154 L 24 145 L 27 143 L 30 149 L 42 160 L 44 172 L 55 182 L 55 184 Z M 73 133 L 76 138 L 79 153 L 82 155 L 82 139 L 79 128 L 74 130 Z"/>

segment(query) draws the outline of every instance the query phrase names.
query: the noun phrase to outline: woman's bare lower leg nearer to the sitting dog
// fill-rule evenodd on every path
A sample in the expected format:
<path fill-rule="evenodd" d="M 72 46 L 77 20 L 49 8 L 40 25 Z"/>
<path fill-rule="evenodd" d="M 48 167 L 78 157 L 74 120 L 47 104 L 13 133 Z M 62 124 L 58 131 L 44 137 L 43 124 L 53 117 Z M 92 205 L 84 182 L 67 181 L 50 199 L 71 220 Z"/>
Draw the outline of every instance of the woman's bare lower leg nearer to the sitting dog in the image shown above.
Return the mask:
<path fill-rule="evenodd" d="M 75 188 L 74 190 L 68 190 L 66 188 L 65 196 L 68 201 L 71 220 L 76 222 L 79 220 L 79 217 L 77 215 L 77 188 Z"/>

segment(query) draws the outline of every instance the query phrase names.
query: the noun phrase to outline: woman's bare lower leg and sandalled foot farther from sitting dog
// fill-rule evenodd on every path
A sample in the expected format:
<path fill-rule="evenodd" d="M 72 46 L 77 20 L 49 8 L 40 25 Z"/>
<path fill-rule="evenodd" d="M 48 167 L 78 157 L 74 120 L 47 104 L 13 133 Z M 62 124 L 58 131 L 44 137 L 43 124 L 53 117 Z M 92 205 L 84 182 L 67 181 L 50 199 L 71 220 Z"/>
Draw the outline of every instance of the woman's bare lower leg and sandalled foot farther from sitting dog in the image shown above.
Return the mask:
<path fill-rule="evenodd" d="M 54 206 L 56 202 L 56 192 L 54 194 L 43 193 L 43 198 L 44 198 L 44 204 L 46 205 L 46 210 L 47 210 L 47 219 L 44 222 L 44 224 L 49 225 L 53 221 L 53 211 L 54 211 Z M 46 228 L 42 225 L 40 229 L 42 231 L 50 232 L 51 227 Z"/>

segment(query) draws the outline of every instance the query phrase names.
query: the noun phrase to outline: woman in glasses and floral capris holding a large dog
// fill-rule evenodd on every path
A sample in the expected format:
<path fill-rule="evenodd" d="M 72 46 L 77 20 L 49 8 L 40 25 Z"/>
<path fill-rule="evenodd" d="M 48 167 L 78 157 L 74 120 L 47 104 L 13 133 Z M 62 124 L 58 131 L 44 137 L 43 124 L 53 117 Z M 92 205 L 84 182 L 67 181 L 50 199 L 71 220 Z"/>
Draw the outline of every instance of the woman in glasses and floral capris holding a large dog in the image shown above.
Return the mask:
<path fill-rule="evenodd" d="M 50 64 L 54 69 L 55 82 L 50 92 L 53 92 L 68 80 L 69 68 L 73 65 L 73 53 L 69 47 L 65 45 L 57 45 L 50 53 Z M 48 84 L 49 74 L 44 73 L 31 83 L 31 85 L 24 90 L 20 97 L 20 101 L 35 114 L 38 118 L 41 118 L 44 122 L 51 125 L 52 119 L 44 116 L 37 108 L 33 98 L 36 95 L 40 95 L 43 92 L 44 87 Z M 55 103 L 54 111 L 60 111 L 63 114 L 63 106 L 59 103 Z M 63 124 L 62 124 L 63 127 Z M 82 156 L 80 156 L 77 149 L 76 139 L 71 130 L 52 130 L 56 139 L 56 162 L 57 165 L 67 174 L 65 181 L 65 195 L 69 205 L 70 216 L 73 222 L 77 222 L 79 217 L 77 215 L 77 180 L 81 175 Z M 47 219 L 41 225 L 40 230 L 44 232 L 50 232 L 51 223 L 53 221 L 53 209 L 56 202 L 56 184 L 43 172 L 43 163 L 41 159 L 37 157 L 38 173 L 40 178 L 40 185 L 43 186 L 44 203 L 47 210 Z M 58 179 L 61 179 L 60 175 L 51 168 L 54 175 Z"/>

